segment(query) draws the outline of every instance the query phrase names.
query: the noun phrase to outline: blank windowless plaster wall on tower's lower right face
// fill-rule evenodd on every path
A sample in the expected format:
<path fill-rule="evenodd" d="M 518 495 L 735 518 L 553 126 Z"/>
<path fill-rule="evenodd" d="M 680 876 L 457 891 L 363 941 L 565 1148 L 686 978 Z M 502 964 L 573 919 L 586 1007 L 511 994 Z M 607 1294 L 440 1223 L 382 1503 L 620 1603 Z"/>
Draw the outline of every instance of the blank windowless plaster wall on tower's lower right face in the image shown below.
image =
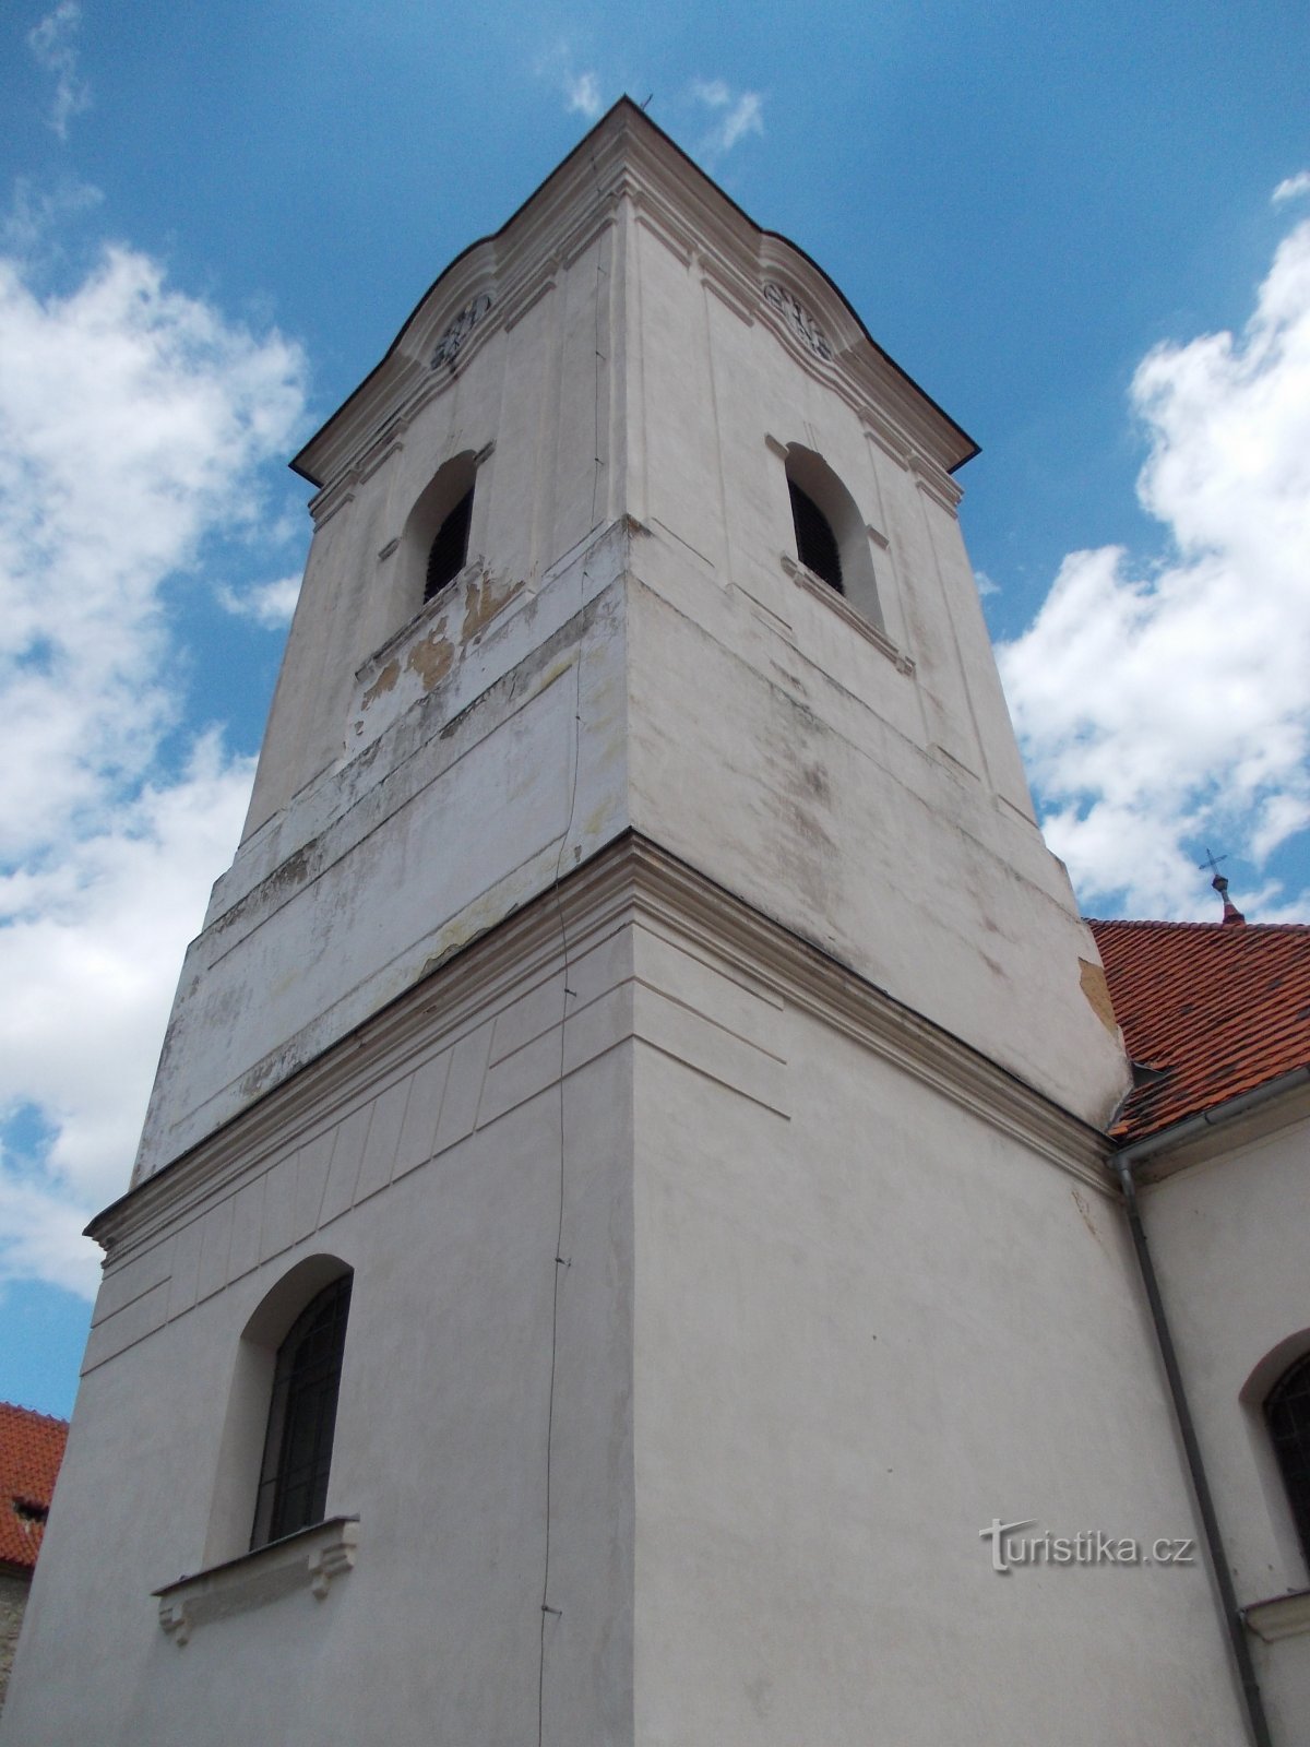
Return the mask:
<path fill-rule="evenodd" d="M 709 957 L 638 935 L 636 1738 L 1242 1740 L 1203 1565 L 978 1534 L 1196 1534 L 1118 1209 Z"/>

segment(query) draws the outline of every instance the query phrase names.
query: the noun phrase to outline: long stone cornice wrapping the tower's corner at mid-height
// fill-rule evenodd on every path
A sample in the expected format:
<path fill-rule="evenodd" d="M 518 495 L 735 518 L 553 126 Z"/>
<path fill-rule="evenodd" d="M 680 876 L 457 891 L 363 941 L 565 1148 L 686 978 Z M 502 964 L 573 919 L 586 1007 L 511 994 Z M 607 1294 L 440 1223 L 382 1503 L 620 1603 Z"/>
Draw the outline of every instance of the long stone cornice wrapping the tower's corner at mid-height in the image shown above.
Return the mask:
<path fill-rule="evenodd" d="M 784 1001 L 1109 1193 L 1109 1143 L 1097 1130 L 821 947 L 625 832 L 517 915 L 424 966 L 405 994 L 107 1207 L 87 1233 L 115 1260 L 148 1244 L 166 1225 L 262 1169 L 274 1148 L 297 1144 L 367 1087 L 405 1071 L 419 1052 L 431 1050 L 433 1038 L 459 1034 L 473 1015 L 540 982 L 559 963 L 561 928 L 569 957 L 578 957 L 627 922 L 658 928 L 763 980 Z"/>

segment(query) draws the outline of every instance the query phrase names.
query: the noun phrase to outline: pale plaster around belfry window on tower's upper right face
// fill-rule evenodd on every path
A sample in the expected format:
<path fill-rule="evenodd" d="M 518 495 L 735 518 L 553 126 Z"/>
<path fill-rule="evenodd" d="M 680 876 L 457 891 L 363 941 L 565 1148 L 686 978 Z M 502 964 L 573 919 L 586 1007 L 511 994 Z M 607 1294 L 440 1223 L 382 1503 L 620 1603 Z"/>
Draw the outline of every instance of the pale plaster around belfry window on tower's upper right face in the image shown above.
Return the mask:
<path fill-rule="evenodd" d="M 896 725 L 1031 816 L 945 472 L 908 447 L 893 459 L 837 372 L 788 344 L 763 300 L 730 309 L 676 236 L 638 224 L 632 274 L 629 418 L 643 456 L 632 512 L 789 624 L 779 556 L 795 556 L 795 536 L 783 461 L 765 440 L 817 449 L 886 540 L 873 538 L 879 592 L 893 641 L 915 662 L 914 706 Z"/>

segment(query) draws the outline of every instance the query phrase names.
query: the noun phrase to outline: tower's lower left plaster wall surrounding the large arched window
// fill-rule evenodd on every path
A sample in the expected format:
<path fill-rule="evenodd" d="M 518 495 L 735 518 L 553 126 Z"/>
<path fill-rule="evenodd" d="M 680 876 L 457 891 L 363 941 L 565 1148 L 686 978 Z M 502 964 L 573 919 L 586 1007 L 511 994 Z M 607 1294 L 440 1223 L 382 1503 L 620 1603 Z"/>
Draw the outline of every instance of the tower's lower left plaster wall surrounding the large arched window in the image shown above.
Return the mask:
<path fill-rule="evenodd" d="M 547 1738 L 631 1742 L 625 936 L 571 956 L 569 987 L 562 1237 L 545 964 L 110 1268 L 5 1747 L 534 1740 L 548 1420 Z M 320 1253 L 355 1270 L 327 1509 L 358 1513 L 356 1565 L 178 1647 L 150 1592 L 206 1564 L 239 1333 Z"/>

